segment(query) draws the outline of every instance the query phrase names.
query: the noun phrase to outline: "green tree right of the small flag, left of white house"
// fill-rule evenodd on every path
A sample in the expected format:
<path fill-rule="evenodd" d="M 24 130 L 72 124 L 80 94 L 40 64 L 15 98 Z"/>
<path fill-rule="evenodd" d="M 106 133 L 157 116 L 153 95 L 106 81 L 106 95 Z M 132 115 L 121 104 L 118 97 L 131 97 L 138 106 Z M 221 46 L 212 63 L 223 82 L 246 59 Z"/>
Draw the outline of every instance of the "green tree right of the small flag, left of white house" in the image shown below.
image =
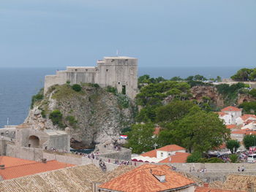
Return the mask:
<path fill-rule="evenodd" d="M 127 133 L 127 147 L 132 147 L 132 153 L 142 153 L 143 151 L 152 150 L 157 137 L 154 136 L 154 124 L 135 124 L 132 131 Z"/>

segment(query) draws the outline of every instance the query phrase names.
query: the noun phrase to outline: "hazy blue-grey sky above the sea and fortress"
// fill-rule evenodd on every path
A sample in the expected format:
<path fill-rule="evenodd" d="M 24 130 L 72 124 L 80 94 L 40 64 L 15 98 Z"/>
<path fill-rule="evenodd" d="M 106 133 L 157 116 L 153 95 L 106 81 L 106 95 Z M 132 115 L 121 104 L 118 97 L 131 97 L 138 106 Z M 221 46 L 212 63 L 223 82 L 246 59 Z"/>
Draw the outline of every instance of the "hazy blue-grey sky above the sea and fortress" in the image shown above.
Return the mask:
<path fill-rule="evenodd" d="M 0 67 L 256 66 L 255 0 L 1 0 Z"/>

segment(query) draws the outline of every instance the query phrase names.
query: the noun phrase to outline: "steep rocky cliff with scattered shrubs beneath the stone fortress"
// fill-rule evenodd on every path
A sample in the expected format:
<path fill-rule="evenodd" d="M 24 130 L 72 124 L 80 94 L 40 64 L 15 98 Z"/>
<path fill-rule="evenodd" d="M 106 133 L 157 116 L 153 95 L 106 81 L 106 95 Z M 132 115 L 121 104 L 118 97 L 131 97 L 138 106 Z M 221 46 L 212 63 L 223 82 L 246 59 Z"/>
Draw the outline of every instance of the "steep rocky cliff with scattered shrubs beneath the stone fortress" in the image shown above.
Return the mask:
<path fill-rule="evenodd" d="M 69 127 L 75 149 L 116 140 L 122 129 L 134 123 L 135 107 L 126 96 L 93 84 L 81 88 L 75 91 L 68 84 L 54 85 L 43 98 L 37 96 L 25 123 L 39 128 Z"/>

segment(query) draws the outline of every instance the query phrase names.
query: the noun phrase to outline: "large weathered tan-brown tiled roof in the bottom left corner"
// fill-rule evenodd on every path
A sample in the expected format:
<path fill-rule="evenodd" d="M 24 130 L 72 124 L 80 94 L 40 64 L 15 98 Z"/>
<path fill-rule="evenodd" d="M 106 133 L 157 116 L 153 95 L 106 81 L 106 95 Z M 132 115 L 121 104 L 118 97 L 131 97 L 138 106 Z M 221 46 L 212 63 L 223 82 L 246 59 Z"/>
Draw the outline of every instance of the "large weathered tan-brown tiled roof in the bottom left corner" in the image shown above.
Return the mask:
<path fill-rule="evenodd" d="M 105 174 L 94 164 L 72 166 L 0 182 L 1 192 L 92 191 L 92 183 Z"/>

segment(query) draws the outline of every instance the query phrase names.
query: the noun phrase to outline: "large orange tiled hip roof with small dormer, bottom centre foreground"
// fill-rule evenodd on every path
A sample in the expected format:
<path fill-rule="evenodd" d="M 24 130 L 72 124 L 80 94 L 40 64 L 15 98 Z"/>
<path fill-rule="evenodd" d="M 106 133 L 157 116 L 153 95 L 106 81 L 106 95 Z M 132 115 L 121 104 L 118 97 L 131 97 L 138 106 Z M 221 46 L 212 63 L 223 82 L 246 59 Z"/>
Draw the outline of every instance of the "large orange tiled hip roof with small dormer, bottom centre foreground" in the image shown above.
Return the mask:
<path fill-rule="evenodd" d="M 161 172 L 165 174 L 165 182 L 160 182 L 152 173 Z M 143 164 L 136 169 L 121 174 L 108 183 L 99 185 L 101 189 L 124 192 L 157 192 L 168 189 L 178 189 L 195 185 L 195 182 L 187 177 L 173 172 L 167 165 Z"/>

